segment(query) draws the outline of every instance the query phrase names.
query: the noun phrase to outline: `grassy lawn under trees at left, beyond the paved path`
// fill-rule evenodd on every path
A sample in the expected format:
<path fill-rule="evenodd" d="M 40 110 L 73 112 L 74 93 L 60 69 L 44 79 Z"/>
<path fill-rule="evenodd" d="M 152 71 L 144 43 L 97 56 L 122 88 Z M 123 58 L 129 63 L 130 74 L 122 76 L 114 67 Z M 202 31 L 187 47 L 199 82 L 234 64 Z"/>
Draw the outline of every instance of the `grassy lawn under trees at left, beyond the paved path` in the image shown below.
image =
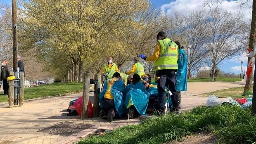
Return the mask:
<path fill-rule="evenodd" d="M 83 83 L 53 83 L 49 85 L 40 85 L 37 87 L 28 87 L 24 89 L 24 99 L 33 99 L 38 97 L 56 96 L 70 92 L 80 92 L 83 90 Z M 0 95 L 0 102 L 8 102 L 8 96 Z"/>

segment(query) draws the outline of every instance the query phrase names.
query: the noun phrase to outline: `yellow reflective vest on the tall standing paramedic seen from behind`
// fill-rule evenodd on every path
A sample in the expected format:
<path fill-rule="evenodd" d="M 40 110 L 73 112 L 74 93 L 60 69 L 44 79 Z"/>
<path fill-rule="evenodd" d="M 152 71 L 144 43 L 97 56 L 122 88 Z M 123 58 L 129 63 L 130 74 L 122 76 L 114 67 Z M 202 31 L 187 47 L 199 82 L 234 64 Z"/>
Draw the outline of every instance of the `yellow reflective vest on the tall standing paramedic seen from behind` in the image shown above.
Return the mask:
<path fill-rule="evenodd" d="M 178 45 L 169 38 L 158 40 L 161 51 L 153 64 L 153 70 L 178 69 Z"/>

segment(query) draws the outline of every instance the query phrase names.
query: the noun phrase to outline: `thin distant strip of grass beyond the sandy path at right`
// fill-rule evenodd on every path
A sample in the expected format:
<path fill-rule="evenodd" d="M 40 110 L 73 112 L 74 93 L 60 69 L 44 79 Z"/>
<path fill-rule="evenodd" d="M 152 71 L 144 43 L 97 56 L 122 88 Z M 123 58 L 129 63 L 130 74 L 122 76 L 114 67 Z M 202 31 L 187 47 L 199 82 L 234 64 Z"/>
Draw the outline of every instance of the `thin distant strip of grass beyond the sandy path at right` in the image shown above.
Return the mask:
<path fill-rule="evenodd" d="M 216 78 L 217 82 L 237 82 L 239 78 Z M 211 82 L 211 78 L 191 78 L 187 82 Z"/>

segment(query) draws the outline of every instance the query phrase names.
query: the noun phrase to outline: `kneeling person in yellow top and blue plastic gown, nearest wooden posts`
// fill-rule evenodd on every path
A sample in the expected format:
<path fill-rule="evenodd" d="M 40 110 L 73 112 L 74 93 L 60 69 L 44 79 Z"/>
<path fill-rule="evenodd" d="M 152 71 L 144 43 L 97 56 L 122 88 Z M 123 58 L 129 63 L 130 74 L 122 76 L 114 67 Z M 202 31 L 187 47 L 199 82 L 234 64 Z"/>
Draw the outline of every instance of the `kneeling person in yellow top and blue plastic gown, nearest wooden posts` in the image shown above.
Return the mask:
<path fill-rule="evenodd" d="M 114 73 L 113 77 L 104 83 L 103 91 L 100 93 L 100 104 L 102 112 L 100 116 L 112 121 L 117 114 L 121 117 L 125 113 L 124 95 L 126 87 L 122 80 L 120 80 L 120 73 Z"/>

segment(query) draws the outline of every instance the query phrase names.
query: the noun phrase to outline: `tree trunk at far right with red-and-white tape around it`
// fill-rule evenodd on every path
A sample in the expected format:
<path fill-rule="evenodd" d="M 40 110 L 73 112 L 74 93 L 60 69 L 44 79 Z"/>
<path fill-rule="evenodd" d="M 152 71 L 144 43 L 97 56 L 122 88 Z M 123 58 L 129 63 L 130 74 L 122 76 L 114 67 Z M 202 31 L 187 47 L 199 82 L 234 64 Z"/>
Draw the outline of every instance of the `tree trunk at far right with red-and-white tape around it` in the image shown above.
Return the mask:
<path fill-rule="evenodd" d="M 256 0 L 253 0 L 252 16 L 251 16 L 251 32 L 250 32 L 250 41 L 249 41 L 249 49 L 251 49 L 251 50 L 254 49 L 255 39 L 254 39 L 253 35 L 256 34 L 255 31 L 256 31 Z M 251 58 L 248 57 L 247 66 L 248 66 L 250 60 L 251 60 Z M 244 94 L 248 90 L 251 90 L 252 76 L 253 76 L 253 73 L 251 73 L 251 76 L 249 78 L 247 78 L 247 80 L 246 80 L 246 85 L 244 86 Z"/>

